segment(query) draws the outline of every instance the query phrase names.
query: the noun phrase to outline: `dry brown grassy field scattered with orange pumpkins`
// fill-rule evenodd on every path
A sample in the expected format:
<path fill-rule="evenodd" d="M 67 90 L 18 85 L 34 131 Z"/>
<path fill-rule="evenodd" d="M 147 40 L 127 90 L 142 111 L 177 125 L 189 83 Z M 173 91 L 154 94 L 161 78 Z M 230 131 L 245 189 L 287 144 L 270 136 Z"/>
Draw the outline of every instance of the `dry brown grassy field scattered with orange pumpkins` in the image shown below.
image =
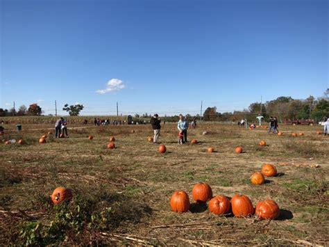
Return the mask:
<path fill-rule="evenodd" d="M 74 118 L 69 138 L 55 138 L 42 120 L 3 126 L 1 246 L 328 244 L 329 138 L 319 126 L 280 126 L 278 136 L 198 122 L 178 145 L 176 123 L 153 143 L 150 125 Z"/>

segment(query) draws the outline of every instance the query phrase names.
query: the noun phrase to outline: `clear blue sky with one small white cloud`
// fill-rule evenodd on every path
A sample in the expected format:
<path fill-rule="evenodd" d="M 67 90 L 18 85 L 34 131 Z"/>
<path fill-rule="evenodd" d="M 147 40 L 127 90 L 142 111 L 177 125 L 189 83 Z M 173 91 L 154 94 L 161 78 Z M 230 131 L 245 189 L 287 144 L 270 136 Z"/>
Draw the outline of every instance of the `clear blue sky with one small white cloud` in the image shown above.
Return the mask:
<path fill-rule="evenodd" d="M 0 108 L 194 115 L 329 88 L 326 0 L 0 2 Z"/>

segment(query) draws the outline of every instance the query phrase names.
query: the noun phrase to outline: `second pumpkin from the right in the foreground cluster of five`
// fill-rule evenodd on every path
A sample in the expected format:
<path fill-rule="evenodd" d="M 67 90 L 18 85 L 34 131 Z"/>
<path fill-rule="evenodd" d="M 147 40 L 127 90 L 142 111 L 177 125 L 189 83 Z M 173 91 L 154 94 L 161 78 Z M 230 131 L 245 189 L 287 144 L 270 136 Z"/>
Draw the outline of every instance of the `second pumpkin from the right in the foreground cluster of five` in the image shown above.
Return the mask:
<path fill-rule="evenodd" d="M 247 217 L 253 215 L 255 209 L 251 200 L 244 195 L 235 195 L 230 200 L 232 212 L 235 217 Z"/>

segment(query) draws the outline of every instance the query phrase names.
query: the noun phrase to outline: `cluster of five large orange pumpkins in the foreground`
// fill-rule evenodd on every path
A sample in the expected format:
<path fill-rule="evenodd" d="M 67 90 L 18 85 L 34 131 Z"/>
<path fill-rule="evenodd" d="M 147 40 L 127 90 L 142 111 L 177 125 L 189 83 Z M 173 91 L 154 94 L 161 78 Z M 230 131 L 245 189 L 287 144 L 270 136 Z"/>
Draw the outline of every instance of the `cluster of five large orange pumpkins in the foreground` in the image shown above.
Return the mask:
<path fill-rule="evenodd" d="M 206 203 L 212 214 L 227 215 L 230 212 L 235 217 L 248 217 L 255 214 L 261 219 L 276 219 L 280 216 L 280 208 L 273 200 L 261 200 L 256 207 L 253 207 L 251 200 L 244 195 L 236 194 L 228 200 L 226 196 L 219 195 L 212 197 L 212 189 L 208 184 L 198 183 L 192 189 L 192 198 L 198 203 Z M 185 191 L 175 191 L 170 198 L 170 207 L 173 212 L 189 211 L 189 196 Z"/>

